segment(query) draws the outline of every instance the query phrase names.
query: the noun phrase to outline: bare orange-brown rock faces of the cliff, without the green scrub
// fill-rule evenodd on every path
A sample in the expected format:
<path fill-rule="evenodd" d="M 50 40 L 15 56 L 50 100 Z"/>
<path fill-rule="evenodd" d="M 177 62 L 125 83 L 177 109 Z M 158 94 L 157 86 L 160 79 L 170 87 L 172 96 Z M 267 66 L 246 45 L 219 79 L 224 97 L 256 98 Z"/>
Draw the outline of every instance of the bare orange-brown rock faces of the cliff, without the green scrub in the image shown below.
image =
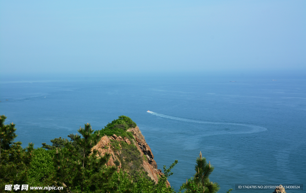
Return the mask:
<path fill-rule="evenodd" d="M 157 169 L 157 164 L 154 160 L 154 155 L 151 151 L 151 148 L 149 145 L 146 143 L 144 140 L 144 136 L 141 134 L 140 130 L 138 127 L 135 128 L 130 128 L 127 130 L 127 132 L 131 132 L 133 134 L 133 137 L 135 140 L 130 141 L 128 138 L 124 137 L 122 138 L 121 136 L 117 135 L 112 135 L 111 137 L 103 136 L 101 140 L 94 146 L 92 147 L 91 151 L 96 149 L 101 156 L 104 156 L 105 153 L 111 154 L 110 159 L 106 163 L 106 166 L 115 166 L 115 162 L 117 160 L 117 165 L 120 156 L 120 149 L 118 151 L 114 151 L 112 146 L 114 144 L 111 143 L 110 140 L 114 141 L 124 141 L 127 144 L 134 144 L 138 151 L 140 151 L 140 154 L 142 157 L 146 157 L 143 159 L 142 166 L 144 170 L 148 173 L 147 175 L 154 180 L 156 183 L 158 182 L 158 178 L 163 175 L 162 170 Z M 121 147 L 120 143 L 119 146 Z M 121 162 L 118 166 L 118 170 L 121 168 Z M 167 181 L 167 185 L 170 186 L 170 183 Z"/>

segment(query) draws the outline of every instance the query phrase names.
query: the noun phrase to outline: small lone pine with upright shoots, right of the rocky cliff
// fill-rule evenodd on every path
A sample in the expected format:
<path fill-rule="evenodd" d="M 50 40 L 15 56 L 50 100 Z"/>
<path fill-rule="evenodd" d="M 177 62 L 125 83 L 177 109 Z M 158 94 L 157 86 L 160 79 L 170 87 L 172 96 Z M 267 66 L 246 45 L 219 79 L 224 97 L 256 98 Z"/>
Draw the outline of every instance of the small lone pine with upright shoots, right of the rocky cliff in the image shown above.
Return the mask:
<path fill-rule="evenodd" d="M 185 190 L 186 193 L 197 192 L 197 193 L 215 193 L 218 192 L 219 185 L 209 180 L 209 175 L 214 171 L 214 166 L 211 163 L 206 162 L 206 158 L 202 158 L 202 153 L 196 158 L 195 170 L 196 173 L 193 179 L 186 179 L 186 183 L 182 184 L 181 190 Z"/>

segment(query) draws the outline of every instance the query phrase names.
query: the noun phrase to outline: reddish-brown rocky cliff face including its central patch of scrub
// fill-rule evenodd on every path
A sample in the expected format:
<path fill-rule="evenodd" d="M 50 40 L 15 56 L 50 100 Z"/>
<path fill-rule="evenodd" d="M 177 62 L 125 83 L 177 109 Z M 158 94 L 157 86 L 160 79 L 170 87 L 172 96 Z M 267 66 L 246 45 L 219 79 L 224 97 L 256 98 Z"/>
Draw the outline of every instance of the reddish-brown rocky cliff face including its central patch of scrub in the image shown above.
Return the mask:
<path fill-rule="evenodd" d="M 161 169 L 157 169 L 154 155 L 144 136 L 141 134 L 138 126 L 128 129 L 127 132 L 131 132 L 134 139 L 123 138 L 115 134 L 110 137 L 105 135 L 97 145 L 92 147 L 92 150 L 96 149 L 101 156 L 105 155 L 105 153 L 111 155 L 106 163 L 107 166 L 117 166 L 118 170 L 123 169 L 127 173 L 131 172 L 131 169 L 138 167 L 139 170 L 145 171 L 147 176 L 157 183 L 158 178 L 163 173 Z M 133 157 L 129 158 L 129 155 L 133 155 Z M 168 181 L 167 185 L 170 186 Z"/>

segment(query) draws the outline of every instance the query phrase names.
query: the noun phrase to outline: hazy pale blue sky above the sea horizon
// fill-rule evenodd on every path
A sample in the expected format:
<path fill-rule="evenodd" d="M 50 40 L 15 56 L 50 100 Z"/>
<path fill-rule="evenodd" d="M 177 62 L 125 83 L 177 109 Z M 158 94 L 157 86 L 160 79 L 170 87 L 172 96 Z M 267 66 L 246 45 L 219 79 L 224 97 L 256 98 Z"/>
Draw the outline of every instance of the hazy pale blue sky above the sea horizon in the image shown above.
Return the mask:
<path fill-rule="evenodd" d="M 0 1 L 1 73 L 306 69 L 306 1 Z"/>

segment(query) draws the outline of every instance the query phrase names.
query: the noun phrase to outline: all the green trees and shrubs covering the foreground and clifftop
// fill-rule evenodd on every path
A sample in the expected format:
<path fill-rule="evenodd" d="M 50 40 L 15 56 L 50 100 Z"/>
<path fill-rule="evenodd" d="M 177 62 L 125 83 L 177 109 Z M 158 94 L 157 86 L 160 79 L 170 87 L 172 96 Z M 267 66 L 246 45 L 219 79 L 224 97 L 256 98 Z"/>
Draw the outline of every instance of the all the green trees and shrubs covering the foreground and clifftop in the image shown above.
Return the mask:
<path fill-rule="evenodd" d="M 114 158 L 116 166 L 106 166 L 110 154 L 100 155 L 97 150 L 91 151 L 104 135 L 127 137 L 133 142 L 129 128 L 135 128 L 136 123 L 129 117 L 120 116 L 108 123 L 104 129 L 94 131 L 90 124 L 78 130 L 79 134 L 69 134 L 51 140 L 52 145 L 43 143 L 42 148 L 33 149 L 30 143 L 23 149 L 21 142 L 13 142 L 17 137 L 13 123 L 4 125 L 6 117 L 0 116 L 0 193 L 4 192 L 6 184 L 29 184 L 29 186 L 60 186 L 64 191 L 53 192 L 135 192 L 135 193 L 171 193 L 173 188 L 167 186 L 167 179 L 173 173 L 171 169 L 177 160 L 169 167 L 164 166 L 164 175 L 156 184 L 148 177 L 142 163 L 147 157 L 141 156 L 137 147 L 125 141 L 110 140 L 111 148 L 118 153 Z M 107 149 L 107 147 L 105 147 Z M 120 166 L 119 170 L 117 166 Z M 205 158 L 196 159 L 196 174 L 181 186 L 180 192 L 217 192 L 219 186 L 209 180 L 214 170 Z M 227 191 L 228 193 L 231 191 Z M 21 191 L 21 190 L 19 190 Z M 34 190 L 36 191 L 36 190 Z M 42 191 L 47 192 L 47 191 Z"/>

